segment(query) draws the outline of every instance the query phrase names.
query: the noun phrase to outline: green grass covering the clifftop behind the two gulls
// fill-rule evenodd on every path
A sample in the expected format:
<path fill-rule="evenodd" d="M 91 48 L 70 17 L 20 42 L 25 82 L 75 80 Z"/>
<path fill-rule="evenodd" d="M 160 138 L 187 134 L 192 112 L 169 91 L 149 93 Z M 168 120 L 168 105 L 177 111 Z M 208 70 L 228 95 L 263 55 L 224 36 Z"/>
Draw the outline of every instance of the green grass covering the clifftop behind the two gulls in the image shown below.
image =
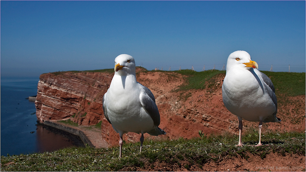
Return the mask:
<path fill-rule="evenodd" d="M 143 67 L 136 67 L 144 69 L 145 71 L 141 72 L 163 72 L 169 76 L 169 78 L 175 79 L 176 75 L 173 72 L 182 74 L 186 76 L 187 82 L 180 86 L 180 90 L 191 90 L 191 89 L 210 89 L 214 88 L 215 80 L 212 78 L 218 74 L 225 74 L 226 71 L 219 70 L 207 70 L 202 72 L 191 71 L 189 69 L 181 71 L 148 71 Z M 110 72 L 113 73 L 114 69 L 100 69 L 100 70 L 91 70 L 91 71 L 69 71 L 69 72 Z M 306 79 L 305 72 L 295 73 L 295 72 L 270 72 L 270 71 L 261 71 L 272 80 L 275 87 L 275 93 L 278 96 L 298 96 L 305 95 L 306 90 Z M 60 75 L 64 72 L 53 72 L 52 74 Z"/>

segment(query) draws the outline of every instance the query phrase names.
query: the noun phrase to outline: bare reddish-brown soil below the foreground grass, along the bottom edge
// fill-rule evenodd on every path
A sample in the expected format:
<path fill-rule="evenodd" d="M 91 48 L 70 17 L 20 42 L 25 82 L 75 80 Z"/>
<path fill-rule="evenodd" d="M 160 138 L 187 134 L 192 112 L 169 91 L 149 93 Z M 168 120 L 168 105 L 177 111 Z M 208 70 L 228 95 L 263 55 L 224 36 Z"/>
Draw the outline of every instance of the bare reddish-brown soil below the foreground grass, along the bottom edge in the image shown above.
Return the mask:
<path fill-rule="evenodd" d="M 145 164 L 145 167 L 125 167 L 121 171 L 303 171 L 305 170 L 305 156 L 286 154 L 268 154 L 261 159 L 258 155 L 248 154 L 248 159 L 242 157 L 210 160 L 205 164 L 190 164 L 187 160 L 177 164 L 155 162 Z M 187 168 L 186 168 L 187 167 Z"/>

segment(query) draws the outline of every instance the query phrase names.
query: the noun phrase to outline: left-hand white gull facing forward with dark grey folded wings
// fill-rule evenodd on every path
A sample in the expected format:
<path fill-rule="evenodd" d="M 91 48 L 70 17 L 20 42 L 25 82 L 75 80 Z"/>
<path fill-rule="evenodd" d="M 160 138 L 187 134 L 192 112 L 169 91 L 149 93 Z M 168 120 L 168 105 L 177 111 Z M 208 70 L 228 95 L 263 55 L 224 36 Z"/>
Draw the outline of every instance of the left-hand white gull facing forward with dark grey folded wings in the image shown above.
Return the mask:
<path fill-rule="evenodd" d="M 135 66 L 132 56 L 127 54 L 117 56 L 115 75 L 103 96 L 105 118 L 120 136 L 119 157 L 121 157 L 124 133 L 141 133 L 140 152 L 144 133 L 153 136 L 166 134 L 164 130 L 158 128 L 161 119 L 152 92 L 136 81 Z"/>

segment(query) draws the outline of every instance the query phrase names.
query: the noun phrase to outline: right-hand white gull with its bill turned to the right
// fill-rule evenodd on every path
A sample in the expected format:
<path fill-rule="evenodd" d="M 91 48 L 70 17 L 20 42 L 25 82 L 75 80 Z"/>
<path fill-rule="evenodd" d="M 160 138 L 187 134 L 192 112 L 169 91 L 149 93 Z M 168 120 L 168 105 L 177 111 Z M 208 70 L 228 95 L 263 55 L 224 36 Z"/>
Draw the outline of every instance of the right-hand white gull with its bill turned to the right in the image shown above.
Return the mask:
<path fill-rule="evenodd" d="M 259 121 L 259 142 L 263 123 L 279 122 L 276 117 L 277 99 L 271 79 L 258 70 L 249 53 L 235 51 L 229 55 L 222 85 L 225 107 L 239 119 L 239 143 L 242 146 L 242 119 Z"/>

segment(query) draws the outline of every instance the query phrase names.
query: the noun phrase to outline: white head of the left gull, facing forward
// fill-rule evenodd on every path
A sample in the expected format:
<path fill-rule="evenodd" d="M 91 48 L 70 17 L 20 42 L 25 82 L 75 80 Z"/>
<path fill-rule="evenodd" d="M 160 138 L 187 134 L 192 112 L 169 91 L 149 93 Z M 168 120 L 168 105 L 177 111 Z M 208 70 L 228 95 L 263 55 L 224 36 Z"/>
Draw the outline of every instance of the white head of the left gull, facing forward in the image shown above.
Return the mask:
<path fill-rule="evenodd" d="M 115 74 L 130 75 L 136 73 L 135 60 L 132 56 L 127 54 L 120 54 L 115 58 Z"/>

